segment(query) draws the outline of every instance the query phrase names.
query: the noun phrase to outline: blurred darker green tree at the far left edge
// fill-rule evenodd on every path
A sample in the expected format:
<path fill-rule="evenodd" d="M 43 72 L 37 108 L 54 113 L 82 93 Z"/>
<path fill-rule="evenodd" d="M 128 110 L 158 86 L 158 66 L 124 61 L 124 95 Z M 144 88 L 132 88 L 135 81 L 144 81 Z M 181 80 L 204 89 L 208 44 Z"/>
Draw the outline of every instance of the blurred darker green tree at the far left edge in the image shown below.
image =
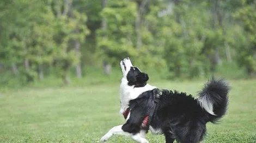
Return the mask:
<path fill-rule="evenodd" d="M 1 41 L 5 66 L 10 66 L 15 74 L 21 70 L 21 75 L 25 75 L 27 81 L 33 81 L 35 72 L 31 70 L 29 61 L 28 41 L 34 21 L 39 21 L 43 10 L 44 2 L 40 1 L 1 1 L 3 11 L 1 22 L 4 41 Z M 20 64 L 23 61 L 25 68 Z"/>

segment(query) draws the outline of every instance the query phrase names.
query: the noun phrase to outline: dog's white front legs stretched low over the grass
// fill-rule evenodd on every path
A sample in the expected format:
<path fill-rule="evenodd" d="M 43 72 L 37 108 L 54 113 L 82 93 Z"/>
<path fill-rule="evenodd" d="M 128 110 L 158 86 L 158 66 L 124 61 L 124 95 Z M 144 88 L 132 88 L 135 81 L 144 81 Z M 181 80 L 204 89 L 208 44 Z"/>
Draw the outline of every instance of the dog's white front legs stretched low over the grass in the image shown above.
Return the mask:
<path fill-rule="evenodd" d="M 145 139 L 145 132 L 141 131 L 140 133 L 137 133 L 135 135 L 130 134 L 128 132 L 124 132 L 122 129 L 123 125 L 115 126 L 111 128 L 101 139 L 100 141 L 107 141 L 112 135 L 118 134 L 118 135 L 131 135 L 132 139 L 139 142 L 139 143 L 148 143 L 149 141 Z"/>

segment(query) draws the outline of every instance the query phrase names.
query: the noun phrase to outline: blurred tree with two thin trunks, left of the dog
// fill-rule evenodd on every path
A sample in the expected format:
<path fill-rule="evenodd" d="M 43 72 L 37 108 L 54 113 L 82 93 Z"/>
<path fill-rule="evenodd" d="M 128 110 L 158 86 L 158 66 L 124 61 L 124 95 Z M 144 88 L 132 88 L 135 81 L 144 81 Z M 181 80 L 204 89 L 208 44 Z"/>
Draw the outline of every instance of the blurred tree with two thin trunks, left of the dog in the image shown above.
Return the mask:
<path fill-rule="evenodd" d="M 80 44 L 84 42 L 89 30 L 86 27 L 87 16 L 71 9 L 70 0 L 50 1 L 52 14 L 56 21 L 54 29 L 56 34 L 53 39 L 56 42 L 57 51 L 54 53 L 54 61 L 60 69 L 60 74 L 65 84 L 69 84 L 69 69 L 77 65 L 77 71 L 81 76 L 80 67 Z M 75 47 L 75 48 L 73 48 Z"/>

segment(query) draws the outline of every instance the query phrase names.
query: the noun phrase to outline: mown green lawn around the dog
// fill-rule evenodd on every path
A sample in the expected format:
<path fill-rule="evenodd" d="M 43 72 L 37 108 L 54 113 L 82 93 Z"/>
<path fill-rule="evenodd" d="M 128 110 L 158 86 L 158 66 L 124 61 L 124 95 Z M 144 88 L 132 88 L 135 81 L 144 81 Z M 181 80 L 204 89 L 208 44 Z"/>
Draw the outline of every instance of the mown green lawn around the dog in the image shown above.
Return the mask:
<path fill-rule="evenodd" d="M 205 81 L 154 82 L 160 88 L 195 95 Z M 209 142 L 256 142 L 256 80 L 231 82 L 227 115 L 208 123 Z M 0 142 L 96 142 L 124 124 L 119 115 L 119 83 L 78 87 L 22 88 L 0 93 Z M 152 135 L 150 142 L 164 142 Z M 108 142 L 134 142 L 115 135 Z"/>

